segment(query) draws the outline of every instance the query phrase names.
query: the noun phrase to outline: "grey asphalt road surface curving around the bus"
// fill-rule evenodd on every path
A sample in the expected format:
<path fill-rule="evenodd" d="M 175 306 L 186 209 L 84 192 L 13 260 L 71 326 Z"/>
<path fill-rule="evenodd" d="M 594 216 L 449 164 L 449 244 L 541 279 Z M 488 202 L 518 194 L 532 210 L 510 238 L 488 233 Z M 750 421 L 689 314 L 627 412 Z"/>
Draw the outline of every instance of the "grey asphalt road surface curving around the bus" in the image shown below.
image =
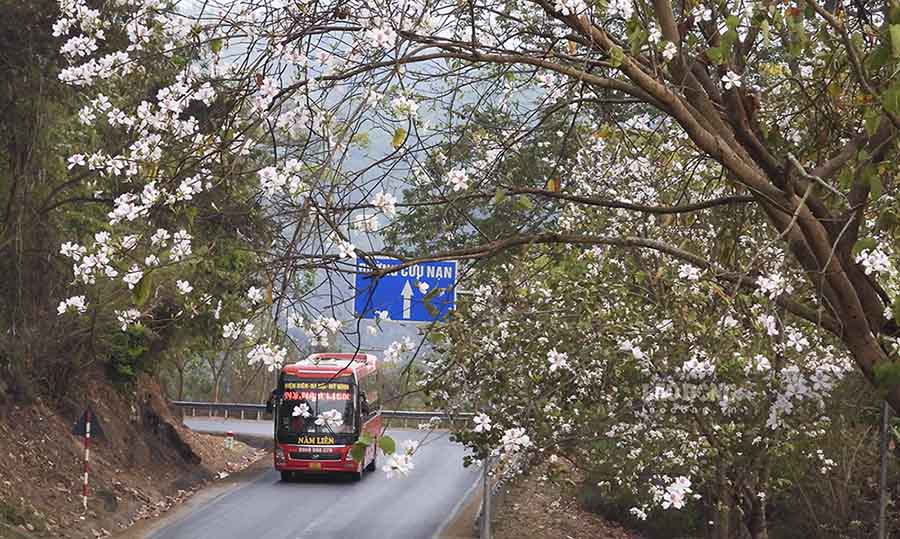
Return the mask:
<path fill-rule="evenodd" d="M 199 431 L 272 435 L 268 421 L 187 418 Z M 389 430 L 399 443 L 422 439 L 416 430 Z M 435 537 L 473 492 L 480 471 L 463 468 L 462 446 L 432 433 L 416 452 L 406 478 L 388 479 L 379 455 L 375 472 L 354 483 L 343 477 L 283 483 L 273 469 L 250 476 L 196 507 L 187 507 L 148 539 L 288 539 Z"/>

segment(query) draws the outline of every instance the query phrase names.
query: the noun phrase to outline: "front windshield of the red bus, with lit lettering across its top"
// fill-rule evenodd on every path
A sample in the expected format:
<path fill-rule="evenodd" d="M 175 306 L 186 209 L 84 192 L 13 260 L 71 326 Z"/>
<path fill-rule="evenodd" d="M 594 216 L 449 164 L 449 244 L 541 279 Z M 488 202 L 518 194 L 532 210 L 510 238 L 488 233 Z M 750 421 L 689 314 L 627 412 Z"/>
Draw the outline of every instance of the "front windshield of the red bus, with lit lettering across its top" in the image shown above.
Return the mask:
<path fill-rule="evenodd" d="M 285 380 L 279 430 L 298 435 L 354 432 L 353 388 L 336 380 Z"/>

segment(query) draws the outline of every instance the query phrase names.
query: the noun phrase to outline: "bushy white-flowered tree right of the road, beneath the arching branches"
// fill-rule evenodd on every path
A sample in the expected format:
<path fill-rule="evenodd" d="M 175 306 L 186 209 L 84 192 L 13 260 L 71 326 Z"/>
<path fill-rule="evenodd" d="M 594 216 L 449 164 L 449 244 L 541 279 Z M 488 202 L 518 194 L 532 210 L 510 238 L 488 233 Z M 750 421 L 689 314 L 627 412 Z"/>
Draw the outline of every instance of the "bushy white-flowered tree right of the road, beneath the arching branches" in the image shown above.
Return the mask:
<path fill-rule="evenodd" d="M 775 463 L 828 476 L 826 403 L 858 376 L 833 337 L 660 256 L 529 254 L 485 274 L 428 365 L 437 403 L 480 410 L 458 433 L 477 453 L 514 454 L 525 427 L 526 447 L 629 493 L 635 518 L 693 505 L 716 537 L 765 535 L 793 477 Z"/>

